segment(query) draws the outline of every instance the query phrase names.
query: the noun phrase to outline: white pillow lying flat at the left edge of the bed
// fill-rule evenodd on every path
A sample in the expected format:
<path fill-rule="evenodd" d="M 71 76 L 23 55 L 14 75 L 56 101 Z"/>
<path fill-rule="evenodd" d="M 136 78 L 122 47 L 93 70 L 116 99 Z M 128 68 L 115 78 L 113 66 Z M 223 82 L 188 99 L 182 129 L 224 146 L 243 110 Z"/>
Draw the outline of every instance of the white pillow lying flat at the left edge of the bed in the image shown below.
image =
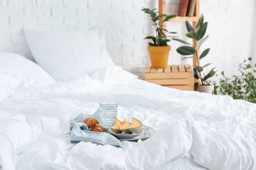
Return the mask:
<path fill-rule="evenodd" d="M 0 53 L 0 73 L 10 73 L 18 77 L 34 79 L 40 83 L 51 84 L 55 82 L 35 62 L 15 53 Z"/>

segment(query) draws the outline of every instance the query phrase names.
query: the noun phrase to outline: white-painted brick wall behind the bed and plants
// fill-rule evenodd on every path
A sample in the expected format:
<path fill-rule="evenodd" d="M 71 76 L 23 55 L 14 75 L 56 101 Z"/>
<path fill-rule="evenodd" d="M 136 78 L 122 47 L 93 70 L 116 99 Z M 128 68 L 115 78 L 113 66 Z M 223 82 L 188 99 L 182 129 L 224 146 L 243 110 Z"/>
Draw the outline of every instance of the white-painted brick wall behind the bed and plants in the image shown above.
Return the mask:
<path fill-rule="evenodd" d="M 167 0 L 168 14 L 177 14 L 180 0 Z M 142 76 L 150 63 L 147 40 L 154 34 L 151 20 L 142 7 L 157 8 L 158 0 L 0 0 L 0 51 L 32 55 L 22 33 L 23 26 L 83 29 L 100 25 L 106 29 L 108 51 L 116 65 Z M 238 64 L 252 55 L 254 0 L 201 0 L 201 13 L 209 21 L 209 40 L 202 47 L 211 48 L 202 64 L 213 62 L 219 71 L 236 74 Z M 186 34 L 185 23 L 169 22 L 169 31 Z M 191 63 L 182 60 L 170 42 L 170 64 Z"/>

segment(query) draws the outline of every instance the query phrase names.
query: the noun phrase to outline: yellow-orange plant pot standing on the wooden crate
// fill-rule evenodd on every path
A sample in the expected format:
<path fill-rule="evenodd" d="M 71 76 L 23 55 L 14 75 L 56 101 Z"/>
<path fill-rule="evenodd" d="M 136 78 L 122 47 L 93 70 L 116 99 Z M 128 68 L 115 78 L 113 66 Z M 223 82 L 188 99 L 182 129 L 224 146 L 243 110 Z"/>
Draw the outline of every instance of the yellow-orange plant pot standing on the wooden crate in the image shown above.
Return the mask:
<path fill-rule="evenodd" d="M 148 46 L 152 68 L 167 68 L 171 46 Z"/>

